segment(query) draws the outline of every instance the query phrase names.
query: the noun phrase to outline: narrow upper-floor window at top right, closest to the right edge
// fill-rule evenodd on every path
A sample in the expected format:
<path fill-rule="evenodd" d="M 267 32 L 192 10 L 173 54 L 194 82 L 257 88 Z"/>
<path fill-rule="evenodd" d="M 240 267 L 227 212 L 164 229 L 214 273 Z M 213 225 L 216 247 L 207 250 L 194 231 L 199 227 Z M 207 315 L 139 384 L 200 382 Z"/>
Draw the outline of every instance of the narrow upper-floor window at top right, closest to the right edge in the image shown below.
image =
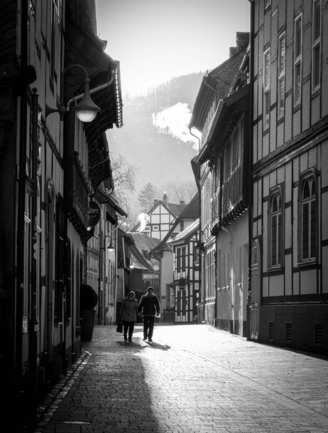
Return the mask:
<path fill-rule="evenodd" d="M 312 90 L 320 86 L 321 70 L 321 0 L 313 1 L 312 19 Z"/>

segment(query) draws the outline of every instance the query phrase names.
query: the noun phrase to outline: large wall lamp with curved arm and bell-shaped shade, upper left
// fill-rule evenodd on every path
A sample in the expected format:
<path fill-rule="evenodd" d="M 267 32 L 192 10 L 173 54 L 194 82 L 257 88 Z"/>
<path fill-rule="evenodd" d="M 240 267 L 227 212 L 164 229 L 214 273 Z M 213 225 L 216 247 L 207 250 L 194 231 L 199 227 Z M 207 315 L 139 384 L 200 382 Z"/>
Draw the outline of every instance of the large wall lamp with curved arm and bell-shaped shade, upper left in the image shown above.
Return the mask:
<path fill-rule="evenodd" d="M 84 93 L 76 96 L 72 100 L 69 100 L 67 108 L 65 108 L 63 106 L 63 79 L 66 71 L 69 68 L 81 68 L 86 74 L 86 78 L 84 79 Z M 86 71 L 86 68 L 76 63 L 66 66 L 66 68 L 63 70 L 63 73 L 61 74 L 61 106 L 59 108 L 51 108 L 46 104 L 46 117 L 51 113 L 58 112 L 61 115 L 61 120 L 63 120 L 63 115 L 66 113 L 66 111 L 69 111 L 69 104 L 73 100 L 81 97 L 81 101 L 73 108 L 73 111 L 76 113 L 78 119 L 81 120 L 81 122 L 92 122 L 92 120 L 96 118 L 97 113 L 101 111 L 101 109 L 91 99 L 89 83 L 90 78 L 88 76 L 88 71 Z"/>

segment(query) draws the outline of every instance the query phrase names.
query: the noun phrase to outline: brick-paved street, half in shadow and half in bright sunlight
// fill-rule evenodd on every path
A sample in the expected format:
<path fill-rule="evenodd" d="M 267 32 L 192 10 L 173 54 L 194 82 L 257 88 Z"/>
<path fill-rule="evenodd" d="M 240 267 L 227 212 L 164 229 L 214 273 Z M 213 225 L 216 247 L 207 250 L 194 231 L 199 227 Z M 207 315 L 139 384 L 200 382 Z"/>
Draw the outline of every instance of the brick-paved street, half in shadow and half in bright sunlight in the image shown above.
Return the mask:
<path fill-rule="evenodd" d="M 115 326 L 39 407 L 44 433 L 328 432 L 328 359 L 207 325 L 156 325 L 153 343 Z"/>

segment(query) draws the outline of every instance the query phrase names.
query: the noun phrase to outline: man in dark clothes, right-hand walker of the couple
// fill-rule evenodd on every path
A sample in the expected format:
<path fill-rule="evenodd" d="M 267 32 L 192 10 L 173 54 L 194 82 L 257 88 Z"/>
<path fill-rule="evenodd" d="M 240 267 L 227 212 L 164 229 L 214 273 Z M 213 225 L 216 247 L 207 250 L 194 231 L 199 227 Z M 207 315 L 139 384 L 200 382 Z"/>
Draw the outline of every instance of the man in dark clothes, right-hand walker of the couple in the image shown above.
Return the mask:
<path fill-rule="evenodd" d="M 143 314 L 143 340 L 153 341 L 153 330 L 155 317 L 160 317 L 160 302 L 154 293 L 153 287 L 149 286 L 147 293 L 141 296 L 138 313 Z"/>

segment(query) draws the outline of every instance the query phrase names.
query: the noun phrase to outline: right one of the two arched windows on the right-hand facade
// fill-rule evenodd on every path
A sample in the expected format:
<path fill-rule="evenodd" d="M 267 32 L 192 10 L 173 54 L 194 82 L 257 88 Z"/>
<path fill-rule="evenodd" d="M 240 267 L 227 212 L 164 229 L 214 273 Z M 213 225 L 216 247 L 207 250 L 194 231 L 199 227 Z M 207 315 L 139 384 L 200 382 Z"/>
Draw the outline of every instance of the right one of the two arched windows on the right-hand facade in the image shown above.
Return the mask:
<path fill-rule="evenodd" d="M 314 170 L 305 174 L 299 185 L 299 259 L 317 257 L 317 182 Z"/>

